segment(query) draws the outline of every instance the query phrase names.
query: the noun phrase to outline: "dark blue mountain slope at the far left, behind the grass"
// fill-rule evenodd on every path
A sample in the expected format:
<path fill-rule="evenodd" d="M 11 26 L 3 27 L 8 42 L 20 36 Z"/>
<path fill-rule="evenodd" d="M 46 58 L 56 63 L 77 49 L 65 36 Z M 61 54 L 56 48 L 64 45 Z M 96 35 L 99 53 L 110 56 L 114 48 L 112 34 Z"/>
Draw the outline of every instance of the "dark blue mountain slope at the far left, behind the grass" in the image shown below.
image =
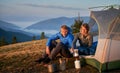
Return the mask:
<path fill-rule="evenodd" d="M 4 37 L 8 43 L 11 43 L 13 36 L 16 36 L 18 42 L 24 42 L 32 40 L 33 34 L 23 31 L 14 24 L 0 20 L 0 39 Z"/>

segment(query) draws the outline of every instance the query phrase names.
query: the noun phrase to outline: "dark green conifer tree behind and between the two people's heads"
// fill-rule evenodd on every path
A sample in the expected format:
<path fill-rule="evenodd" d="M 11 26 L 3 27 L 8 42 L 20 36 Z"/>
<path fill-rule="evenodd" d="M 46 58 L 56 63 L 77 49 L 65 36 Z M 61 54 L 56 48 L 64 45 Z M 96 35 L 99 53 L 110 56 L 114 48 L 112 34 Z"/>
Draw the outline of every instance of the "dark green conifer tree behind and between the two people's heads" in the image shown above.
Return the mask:
<path fill-rule="evenodd" d="M 72 33 L 79 32 L 82 23 L 83 23 L 83 20 L 80 20 L 80 17 L 78 16 L 78 19 L 75 19 L 74 24 L 71 26 Z"/>

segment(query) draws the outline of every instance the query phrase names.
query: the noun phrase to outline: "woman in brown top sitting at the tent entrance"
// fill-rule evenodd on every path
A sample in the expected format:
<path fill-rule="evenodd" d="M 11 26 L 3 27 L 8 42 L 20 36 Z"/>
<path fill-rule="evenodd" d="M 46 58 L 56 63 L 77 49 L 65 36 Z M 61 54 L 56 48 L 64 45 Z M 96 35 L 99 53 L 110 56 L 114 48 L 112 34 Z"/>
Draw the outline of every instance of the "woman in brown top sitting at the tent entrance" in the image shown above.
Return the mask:
<path fill-rule="evenodd" d="M 81 25 L 80 32 L 77 33 L 74 37 L 73 43 L 72 43 L 72 49 L 78 49 L 79 54 L 90 54 L 90 48 L 93 43 L 93 37 L 89 33 L 89 25 L 87 23 L 84 23 Z M 76 42 L 79 40 L 80 46 L 76 46 Z"/>

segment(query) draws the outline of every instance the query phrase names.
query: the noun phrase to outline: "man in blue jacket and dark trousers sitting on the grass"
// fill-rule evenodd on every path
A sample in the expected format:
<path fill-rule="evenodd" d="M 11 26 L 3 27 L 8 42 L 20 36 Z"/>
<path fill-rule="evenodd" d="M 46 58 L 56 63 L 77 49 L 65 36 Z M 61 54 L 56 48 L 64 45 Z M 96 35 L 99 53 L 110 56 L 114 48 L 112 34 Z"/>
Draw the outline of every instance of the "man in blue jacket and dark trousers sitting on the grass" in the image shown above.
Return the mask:
<path fill-rule="evenodd" d="M 60 42 L 57 43 L 55 40 L 60 39 Z M 70 48 L 72 45 L 74 37 L 70 33 L 69 28 L 66 25 L 62 25 L 60 32 L 51 36 L 46 43 L 46 50 L 43 54 L 43 57 L 37 60 L 39 63 L 47 64 L 53 60 L 58 53 L 64 57 L 72 57 Z"/>

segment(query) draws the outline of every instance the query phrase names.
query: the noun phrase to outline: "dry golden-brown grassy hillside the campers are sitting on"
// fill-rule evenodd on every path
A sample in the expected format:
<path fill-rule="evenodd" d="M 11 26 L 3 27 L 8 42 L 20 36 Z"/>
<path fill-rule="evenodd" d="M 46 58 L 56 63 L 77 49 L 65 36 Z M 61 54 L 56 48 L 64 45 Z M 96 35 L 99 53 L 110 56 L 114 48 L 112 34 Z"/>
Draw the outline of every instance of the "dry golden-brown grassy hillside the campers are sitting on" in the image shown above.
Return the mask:
<path fill-rule="evenodd" d="M 46 39 L 0 47 L 0 73 L 48 73 L 46 67 L 34 62 L 41 57 L 45 50 L 45 43 Z M 59 65 L 58 60 L 54 62 Z M 78 72 L 74 68 L 74 59 L 69 59 L 65 71 L 58 70 L 57 73 L 68 72 Z M 109 73 L 113 72 L 119 73 L 120 71 Z M 89 65 L 83 65 L 80 73 L 98 73 L 98 71 Z"/>

